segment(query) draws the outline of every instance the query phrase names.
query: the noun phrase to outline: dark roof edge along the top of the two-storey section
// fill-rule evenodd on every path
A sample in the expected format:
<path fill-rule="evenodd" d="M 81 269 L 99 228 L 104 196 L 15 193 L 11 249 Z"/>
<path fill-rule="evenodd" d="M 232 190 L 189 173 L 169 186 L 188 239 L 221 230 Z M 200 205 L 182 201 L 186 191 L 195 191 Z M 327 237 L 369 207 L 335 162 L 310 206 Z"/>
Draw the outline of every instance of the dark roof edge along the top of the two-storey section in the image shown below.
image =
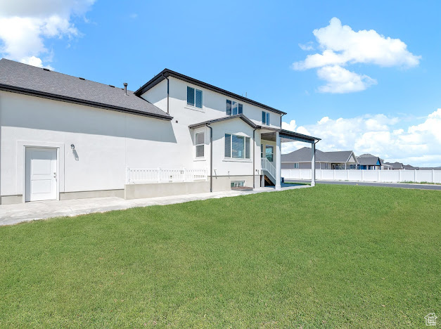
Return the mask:
<path fill-rule="evenodd" d="M 217 86 L 213 86 L 212 84 L 207 84 L 206 82 L 202 82 L 200 80 L 193 79 L 192 77 L 188 77 L 186 75 L 181 75 L 181 73 L 174 72 L 174 71 L 169 70 L 169 69 L 164 69 L 161 72 L 159 72 L 158 75 L 155 75 L 155 77 L 153 77 L 151 80 L 146 82 L 146 84 L 141 86 L 141 88 L 139 88 L 137 91 L 135 91 L 135 95 L 136 96 L 141 96 L 143 93 L 148 91 L 148 89 L 153 88 L 153 86 L 156 86 L 157 84 L 162 82 L 162 80 L 164 80 L 167 77 L 174 77 L 176 79 L 188 82 L 190 84 L 195 84 L 196 86 L 200 86 L 202 88 L 205 88 L 205 89 L 208 89 L 208 90 L 211 90 L 211 91 L 215 91 L 216 93 L 222 93 L 222 95 L 229 96 L 231 98 L 237 99 L 238 101 L 243 101 L 244 103 L 255 105 L 255 106 L 259 107 L 259 108 L 264 108 L 265 110 L 269 110 L 271 112 L 275 112 L 275 113 L 278 113 L 278 114 L 281 114 L 281 115 L 286 115 L 286 112 L 283 112 L 281 110 L 277 110 L 275 108 L 271 108 L 271 106 L 264 105 L 264 104 L 259 103 L 257 101 L 253 101 L 250 98 L 246 98 L 246 97 L 240 96 L 240 95 L 238 95 L 236 93 L 231 93 L 231 91 L 226 91 L 225 89 L 221 89 L 221 88 L 219 88 Z"/>

